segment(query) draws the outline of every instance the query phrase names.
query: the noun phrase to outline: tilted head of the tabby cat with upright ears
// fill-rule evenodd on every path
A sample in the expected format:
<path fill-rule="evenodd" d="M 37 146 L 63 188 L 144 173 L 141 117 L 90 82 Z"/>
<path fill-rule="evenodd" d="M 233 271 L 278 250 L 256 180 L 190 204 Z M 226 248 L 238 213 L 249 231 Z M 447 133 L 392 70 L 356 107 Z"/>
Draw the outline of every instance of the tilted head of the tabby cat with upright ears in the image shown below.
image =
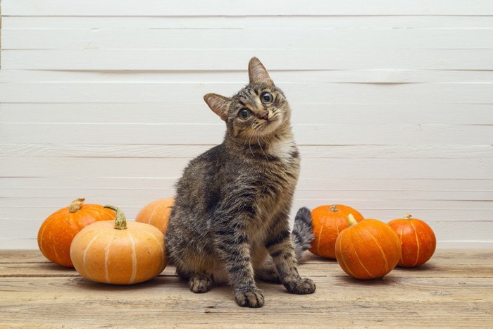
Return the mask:
<path fill-rule="evenodd" d="M 234 137 L 268 137 L 289 125 L 289 105 L 258 58 L 251 58 L 248 73 L 249 84 L 235 96 L 229 98 L 206 94 L 204 100 L 214 113 L 225 120 L 228 132 Z"/>

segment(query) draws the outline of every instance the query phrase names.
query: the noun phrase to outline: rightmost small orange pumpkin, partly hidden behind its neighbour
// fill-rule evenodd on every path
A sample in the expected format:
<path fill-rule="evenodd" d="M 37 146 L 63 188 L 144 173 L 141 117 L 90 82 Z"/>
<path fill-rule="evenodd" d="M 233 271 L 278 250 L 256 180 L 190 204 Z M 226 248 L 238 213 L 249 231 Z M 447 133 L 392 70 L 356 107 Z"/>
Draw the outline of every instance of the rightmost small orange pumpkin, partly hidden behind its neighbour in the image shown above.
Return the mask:
<path fill-rule="evenodd" d="M 397 265 L 404 267 L 426 263 L 437 247 L 437 238 L 432 228 L 424 221 L 411 217 L 406 213 L 404 218 L 389 221 L 389 226 L 397 232 L 401 240 L 402 256 Z"/>

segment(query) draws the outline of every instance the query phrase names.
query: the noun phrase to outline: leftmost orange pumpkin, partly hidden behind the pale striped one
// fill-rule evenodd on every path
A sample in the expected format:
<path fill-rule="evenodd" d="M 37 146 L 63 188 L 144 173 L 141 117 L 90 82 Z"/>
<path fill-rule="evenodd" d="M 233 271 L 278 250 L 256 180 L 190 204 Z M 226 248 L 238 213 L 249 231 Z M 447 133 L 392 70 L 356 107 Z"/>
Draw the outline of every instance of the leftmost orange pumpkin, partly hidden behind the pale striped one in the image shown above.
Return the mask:
<path fill-rule="evenodd" d="M 96 221 L 115 219 L 115 213 L 99 204 L 84 204 L 75 199 L 70 206 L 48 216 L 39 228 L 37 244 L 42 254 L 61 266 L 73 267 L 70 261 L 70 243 L 85 226 Z"/>

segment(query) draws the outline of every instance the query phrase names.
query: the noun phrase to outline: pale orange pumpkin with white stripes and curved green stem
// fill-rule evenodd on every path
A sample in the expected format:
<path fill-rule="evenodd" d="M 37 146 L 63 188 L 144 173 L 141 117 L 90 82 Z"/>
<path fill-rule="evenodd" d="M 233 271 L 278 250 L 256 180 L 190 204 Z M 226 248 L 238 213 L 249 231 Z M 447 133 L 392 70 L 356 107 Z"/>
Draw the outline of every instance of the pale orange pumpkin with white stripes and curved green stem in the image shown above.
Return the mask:
<path fill-rule="evenodd" d="M 113 206 L 116 221 L 82 229 L 70 246 L 75 270 L 87 280 L 114 285 L 141 283 L 156 277 L 168 263 L 163 233 L 152 225 L 127 222 Z"/>

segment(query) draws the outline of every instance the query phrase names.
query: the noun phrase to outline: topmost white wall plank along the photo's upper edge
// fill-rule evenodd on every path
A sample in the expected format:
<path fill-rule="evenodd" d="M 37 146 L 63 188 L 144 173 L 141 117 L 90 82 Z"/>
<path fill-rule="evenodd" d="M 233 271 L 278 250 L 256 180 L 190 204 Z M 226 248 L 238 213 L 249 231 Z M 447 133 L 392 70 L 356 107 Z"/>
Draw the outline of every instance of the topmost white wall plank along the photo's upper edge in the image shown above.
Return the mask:
<path fill-rule="evenodd" d="M 474 0 L 464 4 L 435 0 L 397 0 L 389 3 L 379 0 L 368 4 L 366 1 L 323 1 L 313 0 L 309 6 L 299 6 L 297 1 L 277 1 L 266 4 L 261 0 L 251 0 L 248 4 L 239 0 L 220 0 L 205 5 L 199 0 L 170 1 L 163 6 L 158 0 L 148 0 L 144 4 L 138 1 L 87 0 L 82 5 L 68 6 L 63 0 L 4 0 L 2 14 L 11 16 L 156 16 L 156 15 L 492 15 L 490 1 Z M 258 10 L 262 8 L 262 10 Z"/>

